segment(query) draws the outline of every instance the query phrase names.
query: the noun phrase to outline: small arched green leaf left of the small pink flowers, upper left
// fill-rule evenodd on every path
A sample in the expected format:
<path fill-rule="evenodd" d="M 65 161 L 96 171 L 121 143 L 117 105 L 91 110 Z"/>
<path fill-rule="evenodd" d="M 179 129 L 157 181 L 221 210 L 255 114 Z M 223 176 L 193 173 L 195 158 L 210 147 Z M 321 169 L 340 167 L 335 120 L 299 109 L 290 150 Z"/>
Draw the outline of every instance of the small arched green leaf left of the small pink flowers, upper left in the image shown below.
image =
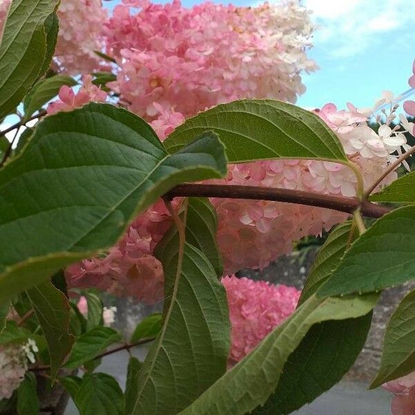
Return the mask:
<path fill-rule="evenodd" d="M 54 98 L 61 86 L 75 86 L 76 84 L 73 77 L 67 75 L 55 75 L 37 82 L 24 99 L 24 121 L 27 121 L 33 113 Z"/>

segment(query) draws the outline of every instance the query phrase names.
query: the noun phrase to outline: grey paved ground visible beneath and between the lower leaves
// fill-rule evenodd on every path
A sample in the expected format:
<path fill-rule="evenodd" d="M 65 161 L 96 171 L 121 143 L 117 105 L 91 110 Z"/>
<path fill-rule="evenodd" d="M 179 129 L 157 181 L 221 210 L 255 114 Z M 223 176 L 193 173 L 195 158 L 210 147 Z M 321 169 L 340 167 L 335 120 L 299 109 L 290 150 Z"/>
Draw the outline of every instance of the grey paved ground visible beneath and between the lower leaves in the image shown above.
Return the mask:
<path fill-rule="evenodd" d="M 133 355 L 142 359 L 146 350 L 135 349 Z M 102 360 L 97 371 L 103 371 L 120 382 L 124 387 L 129 355 L 116 353 Z M 297 415 L 389 415 L 391 395 L 382 389 L 367 391 L 362 382 L 342 382 L 326 394 L 320 396 L 311 405 L 302 407 Z M 73 402 L 68 404 L 65 415 L 78 415 Z M 151 415 L 151 414 L 149 414 Z"/>

